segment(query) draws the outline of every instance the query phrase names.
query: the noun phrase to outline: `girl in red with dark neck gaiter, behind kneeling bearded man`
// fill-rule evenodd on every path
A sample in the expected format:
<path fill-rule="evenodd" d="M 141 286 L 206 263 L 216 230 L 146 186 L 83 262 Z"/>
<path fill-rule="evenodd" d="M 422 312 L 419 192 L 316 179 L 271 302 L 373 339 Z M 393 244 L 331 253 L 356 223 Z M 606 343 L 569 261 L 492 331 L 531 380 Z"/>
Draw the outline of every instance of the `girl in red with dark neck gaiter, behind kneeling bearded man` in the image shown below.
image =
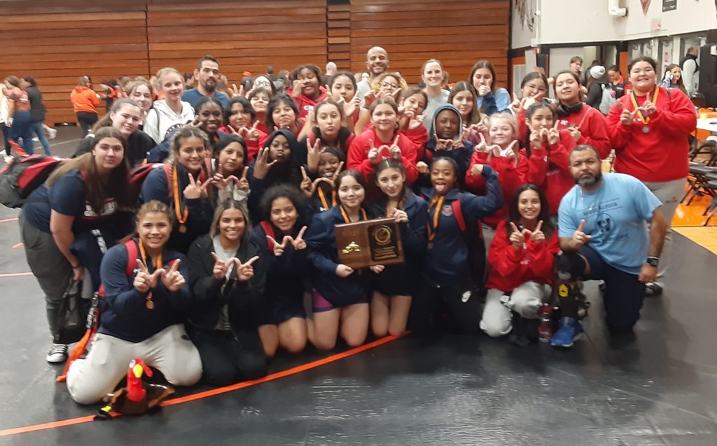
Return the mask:
<path fill-rule="evenodd" d="M 554 87 L 559 101 L 558 130 L 569 130 L 575 142 L 592 145 L 600 157 L 607 158 L 612 150 L 607 121 L 599 110 L 582 102 L 580 77 L 569 70 L 559 72 Z"/>

